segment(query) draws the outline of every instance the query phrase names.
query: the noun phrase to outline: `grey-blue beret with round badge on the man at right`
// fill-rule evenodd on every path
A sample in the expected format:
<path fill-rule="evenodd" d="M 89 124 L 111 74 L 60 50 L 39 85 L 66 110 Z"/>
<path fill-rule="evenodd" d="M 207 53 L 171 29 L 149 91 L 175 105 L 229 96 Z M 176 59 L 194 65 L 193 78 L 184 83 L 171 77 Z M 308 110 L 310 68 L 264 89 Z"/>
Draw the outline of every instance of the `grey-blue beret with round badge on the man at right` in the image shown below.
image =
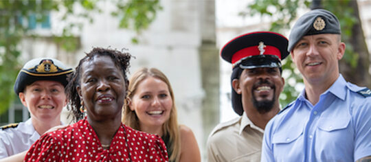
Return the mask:
<path fill-rule="evenodd" d="M 292 51 L 303 36 L 315 34 L 341 34 L 337 17 L 328 10 L 317 9 L 307 12 L 291 28 L 288 51 Z"/>

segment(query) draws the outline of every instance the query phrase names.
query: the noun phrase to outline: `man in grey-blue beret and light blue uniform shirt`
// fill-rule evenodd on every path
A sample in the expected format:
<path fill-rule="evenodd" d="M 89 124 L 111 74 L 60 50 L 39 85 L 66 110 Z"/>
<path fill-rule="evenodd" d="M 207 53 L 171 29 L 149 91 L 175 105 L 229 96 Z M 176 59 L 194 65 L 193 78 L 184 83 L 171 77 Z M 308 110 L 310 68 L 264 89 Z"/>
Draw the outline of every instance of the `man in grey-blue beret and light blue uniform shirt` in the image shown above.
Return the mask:
<path fill-rule="evenodd" d="M 339 73 L 345 48 L 333 13 L 312 10 L 297 20 L 288 51 L 305 88 L 267 124 L 262 161 L 370 161 L 371 92 Z"/>

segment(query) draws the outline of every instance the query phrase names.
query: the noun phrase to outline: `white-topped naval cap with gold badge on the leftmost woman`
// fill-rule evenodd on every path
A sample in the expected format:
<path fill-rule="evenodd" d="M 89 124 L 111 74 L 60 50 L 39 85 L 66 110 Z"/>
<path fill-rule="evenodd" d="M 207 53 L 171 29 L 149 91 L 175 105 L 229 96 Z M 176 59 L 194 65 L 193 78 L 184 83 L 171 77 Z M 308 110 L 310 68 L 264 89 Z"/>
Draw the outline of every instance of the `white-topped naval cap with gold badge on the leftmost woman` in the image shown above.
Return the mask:
<path fill-rule="evenodd" d="M 14 83 L 14 92 L 18 95 L 27 85 L 38 80 L 52 80 L 67 85 L 67 75 L 74 70 L 67 68 L 54 58 L 34 58 L 25 63 Z"/>

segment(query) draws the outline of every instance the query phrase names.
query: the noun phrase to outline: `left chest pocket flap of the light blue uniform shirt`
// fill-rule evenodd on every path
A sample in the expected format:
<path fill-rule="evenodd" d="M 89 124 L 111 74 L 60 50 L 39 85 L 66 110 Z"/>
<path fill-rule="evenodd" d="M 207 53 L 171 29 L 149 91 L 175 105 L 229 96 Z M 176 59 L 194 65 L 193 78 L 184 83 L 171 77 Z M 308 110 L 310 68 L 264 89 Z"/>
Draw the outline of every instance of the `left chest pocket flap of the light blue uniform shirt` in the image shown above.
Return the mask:
<path fill-rule="evenodd" d="M 302 129 L 282 130 L 273 135 L 272 143 L 291 143 L 303 134 Z"/>

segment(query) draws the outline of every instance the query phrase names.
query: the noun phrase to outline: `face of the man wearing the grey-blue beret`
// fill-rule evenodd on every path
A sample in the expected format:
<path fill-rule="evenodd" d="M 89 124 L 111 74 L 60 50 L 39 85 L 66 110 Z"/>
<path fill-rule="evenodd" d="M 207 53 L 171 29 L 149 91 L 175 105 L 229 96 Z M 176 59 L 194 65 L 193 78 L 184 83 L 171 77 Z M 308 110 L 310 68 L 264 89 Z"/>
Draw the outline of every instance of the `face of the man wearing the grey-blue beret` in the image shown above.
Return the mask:
<path fill-rule="evenodd" d="M 345 44 L 338 34 L 303 36 L 293 48 L 291 56 L 304 83 L 333 84 L 339 76 L 338 61 L 343 57 Z"/>

